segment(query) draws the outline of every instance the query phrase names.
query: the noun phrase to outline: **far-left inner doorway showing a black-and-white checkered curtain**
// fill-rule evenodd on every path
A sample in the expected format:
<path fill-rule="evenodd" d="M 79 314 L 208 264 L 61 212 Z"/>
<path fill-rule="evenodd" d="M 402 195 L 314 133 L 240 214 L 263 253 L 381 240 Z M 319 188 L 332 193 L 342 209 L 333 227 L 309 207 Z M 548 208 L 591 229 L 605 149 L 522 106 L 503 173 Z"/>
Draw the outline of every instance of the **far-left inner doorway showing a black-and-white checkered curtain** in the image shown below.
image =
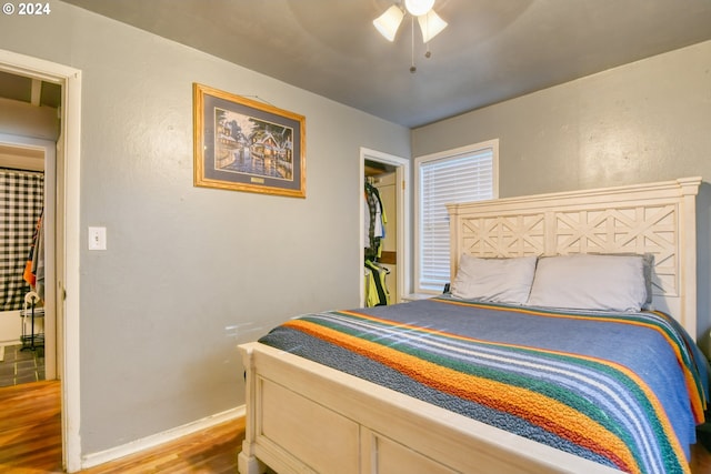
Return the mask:
<path fill-rule="evenodd" d="M 57 312 L 56 312 L 56 142 L 34 139 L 26 135 L 0 133 L 0 168 L 2 168 L 6 205 L 12 205 L 17 212 L 11 212 L 10 219 L 3 222 L 6 231 L 16 238 L 4 239 L 2 249 L 8 255 L 14 255 L 14 262 L 8 259 L 4 263 L 9 268 L 24 266 L 22 260 L 29 256 L 33 245 L 32 231 L 39 225 L 41 216 L 42 239 L 37 241 L 32 250 L 36 259 L 29 270 L 32 278 L 37 276 L 37 266 L 41 265 L 41 274 L 32 292 L 20 271 L 12 281 L 4 281 L 6 309 L 12 311 L 0 313 L 0 341 L 4 346 L 4 370 L 14 369 L 12 377 L 3 374 L 2 385 L 34 382 L 39 380 L 58 379 L 57 354 L 61 346 L 57 345 Z M 10 183 L 12 183 L 10 185 Z M 21 192 L 21 194 L 17 194 Z M 21 211 L 21 212 L 20 212 Z M 13 230 L 16 226 L 18 230 Z M 27 255 L 27 256 L 26 256 Z M 19 260 L 18 260 L 19 259 Z M 27 275 L 27 272 L 26 272 Z M 10 280 L 9 278 L 6 280 Z M 39 295 L 38 295 L 39 292 Z M 30 295 L 37 295 L 28 299 Z M 24 301 L 22 301 L 24 300 Z M 38 303 L 37 307 L 36 304 Z M 8 376 L 6 376 L 8 375 Z"/>

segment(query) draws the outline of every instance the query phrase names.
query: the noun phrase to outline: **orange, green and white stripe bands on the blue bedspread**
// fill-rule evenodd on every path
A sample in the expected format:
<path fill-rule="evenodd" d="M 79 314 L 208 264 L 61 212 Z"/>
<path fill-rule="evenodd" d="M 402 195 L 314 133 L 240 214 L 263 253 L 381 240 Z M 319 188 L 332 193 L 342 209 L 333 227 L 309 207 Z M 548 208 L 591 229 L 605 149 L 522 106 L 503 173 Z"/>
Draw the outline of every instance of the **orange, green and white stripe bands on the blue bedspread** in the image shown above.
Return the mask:
<path fill-rule="evenodd" d="M 508 306 L 441 302 L 511 312 Z M 680 361 L 688 357 L 682 351 L 684 341 L 660 317 L 514 312 L 653 327 Z M 284 326 L 352 351 L 441 393 L 519 417 L 607 458 L 621 471 L 689 470 L 684 450 L 654 392 L 638 374 L 605 357 L 485 341 L 353 311 L 307 315 Z M 697 390 L 700 382 L 689 365 L 684 364 L 684 379 L 690 393 L 697 393 L 694 411 L 703 411 L 705 401 Z"/>

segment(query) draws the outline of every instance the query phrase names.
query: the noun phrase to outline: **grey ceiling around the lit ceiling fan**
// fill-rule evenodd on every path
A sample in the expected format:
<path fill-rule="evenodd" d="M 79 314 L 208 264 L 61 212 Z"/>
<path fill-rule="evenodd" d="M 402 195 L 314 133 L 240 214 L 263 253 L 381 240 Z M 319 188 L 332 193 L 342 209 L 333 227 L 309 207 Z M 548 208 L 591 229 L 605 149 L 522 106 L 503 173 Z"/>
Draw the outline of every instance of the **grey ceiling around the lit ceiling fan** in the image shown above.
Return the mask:
<path fill-rule="evenodd" d="M 390 0 L 64 1 L 410 128 L 711 39 L 709 0 L 437 0 L 410 73 Z"/>

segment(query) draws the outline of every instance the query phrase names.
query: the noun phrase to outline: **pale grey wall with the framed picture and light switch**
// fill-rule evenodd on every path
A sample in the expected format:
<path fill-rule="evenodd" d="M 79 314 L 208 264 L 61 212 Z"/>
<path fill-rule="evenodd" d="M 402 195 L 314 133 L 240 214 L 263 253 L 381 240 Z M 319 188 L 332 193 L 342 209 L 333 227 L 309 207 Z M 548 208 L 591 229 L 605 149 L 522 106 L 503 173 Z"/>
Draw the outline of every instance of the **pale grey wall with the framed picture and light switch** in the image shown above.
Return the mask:
<path fill-rule="evenodd" d="M 0 48 L 82 71 L 84 455 L 242 404 L 238 343 L 358 305 L 359 150 L 410 155 L 407 129 L 59 1 Z M 306 200 L 192 185 L 193 82 L 306 115 Z"/>

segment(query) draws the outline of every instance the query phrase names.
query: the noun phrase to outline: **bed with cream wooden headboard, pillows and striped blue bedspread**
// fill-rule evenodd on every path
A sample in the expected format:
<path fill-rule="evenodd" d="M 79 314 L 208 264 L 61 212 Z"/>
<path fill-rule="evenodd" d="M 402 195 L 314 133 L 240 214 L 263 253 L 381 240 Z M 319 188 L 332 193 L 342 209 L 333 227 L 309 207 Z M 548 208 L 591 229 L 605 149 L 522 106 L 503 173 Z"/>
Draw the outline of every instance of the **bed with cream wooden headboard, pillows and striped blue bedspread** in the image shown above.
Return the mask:
<path fill-rule="evenodd" d="M 700 183 L 449 205 L 454 294 L 303 315 L 240 346 L 240 472 L 688 472 L 708 397 Z M 570 259 L 595 275 L 584 291 L 568 291 Z"/>

